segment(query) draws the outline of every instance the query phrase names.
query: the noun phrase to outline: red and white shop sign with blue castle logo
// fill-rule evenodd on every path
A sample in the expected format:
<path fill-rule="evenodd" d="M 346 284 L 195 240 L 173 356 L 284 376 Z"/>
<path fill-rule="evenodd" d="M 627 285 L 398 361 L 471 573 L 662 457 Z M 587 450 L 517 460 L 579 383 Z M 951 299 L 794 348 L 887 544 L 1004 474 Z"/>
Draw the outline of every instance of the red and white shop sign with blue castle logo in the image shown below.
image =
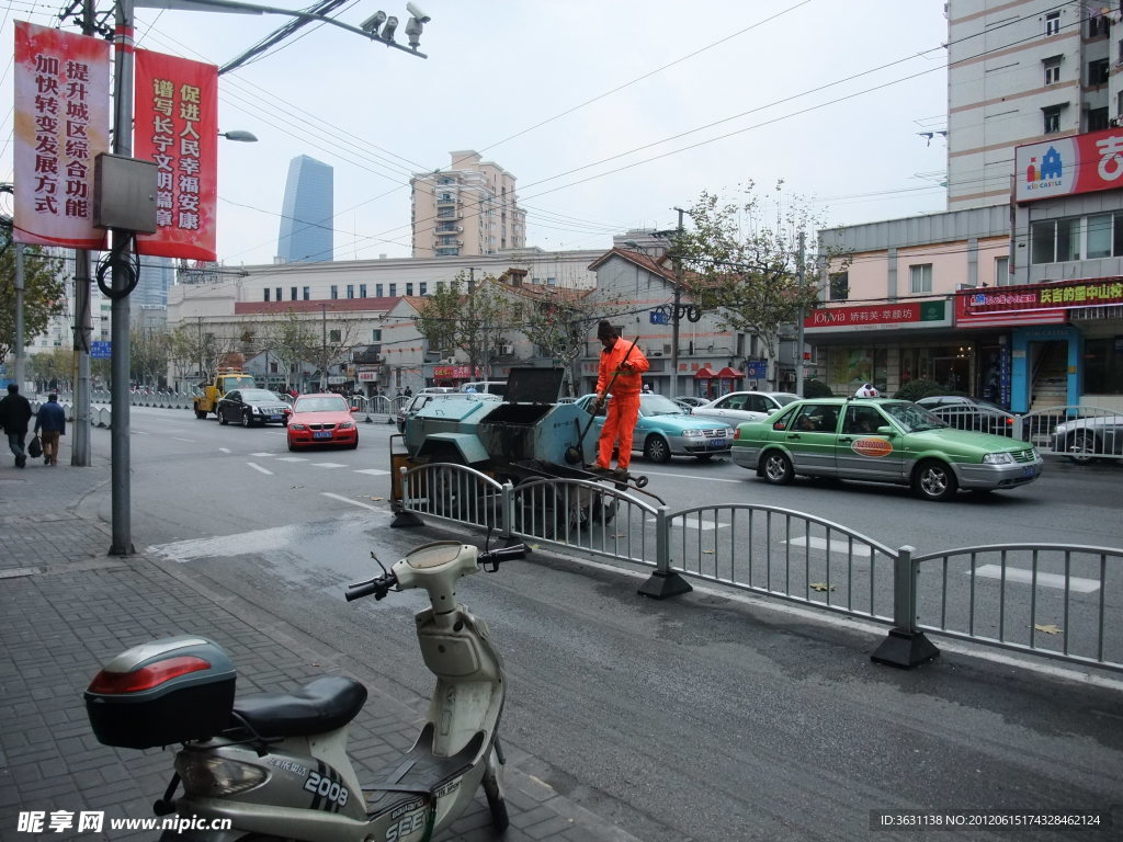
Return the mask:
<path fill-rule="evenodd" d="M 1019 146 L 1014 161 L 1019 202 L 1117 190 L 1123 187 L 1123 129 Z"/>

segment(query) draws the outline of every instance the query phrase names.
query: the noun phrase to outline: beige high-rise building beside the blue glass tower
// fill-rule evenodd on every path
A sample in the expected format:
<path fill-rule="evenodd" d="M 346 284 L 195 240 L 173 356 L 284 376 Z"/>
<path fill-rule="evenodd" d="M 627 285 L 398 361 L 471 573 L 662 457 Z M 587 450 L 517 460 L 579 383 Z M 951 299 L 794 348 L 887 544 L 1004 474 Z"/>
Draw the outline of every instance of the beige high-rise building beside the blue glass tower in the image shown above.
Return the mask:
<path fill-rule="evenodd" d="M 414 257 L 492 255 L 527 245 L 527 213 L 515 177 L 480 153 L 454 152 L 451 165 L 416 173 L 412 191 Z"/>

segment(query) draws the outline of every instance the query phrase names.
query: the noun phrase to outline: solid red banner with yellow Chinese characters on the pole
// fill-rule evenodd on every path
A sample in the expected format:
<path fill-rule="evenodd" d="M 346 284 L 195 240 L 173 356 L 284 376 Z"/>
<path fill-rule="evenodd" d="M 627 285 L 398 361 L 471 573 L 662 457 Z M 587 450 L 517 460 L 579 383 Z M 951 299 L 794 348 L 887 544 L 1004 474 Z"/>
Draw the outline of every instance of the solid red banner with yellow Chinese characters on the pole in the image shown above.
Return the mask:
<path fill-rule="evenodd" d="M 218 259 L 218 67 L 136 52 L 133 154 L 156 163 L 156 232 L 137 251 Z"/>

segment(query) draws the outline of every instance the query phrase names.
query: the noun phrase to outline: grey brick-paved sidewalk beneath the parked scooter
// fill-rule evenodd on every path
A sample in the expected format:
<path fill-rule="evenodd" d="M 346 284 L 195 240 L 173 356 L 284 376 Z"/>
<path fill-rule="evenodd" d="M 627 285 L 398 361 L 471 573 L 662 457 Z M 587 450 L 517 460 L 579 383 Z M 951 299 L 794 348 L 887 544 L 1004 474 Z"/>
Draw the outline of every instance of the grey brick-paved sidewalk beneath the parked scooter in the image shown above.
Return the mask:
<path fill-rule="evenodd" d="M 69 450 L 62 455 L 69 459 Z M 171 567 L 140 555 L 110 557 L 109 529 L 83 516 L 83 498 L 108 494 L 107 465 L 17 470 L 0 456 L 0 840 L 155 839 L 154 831 L 108 831 L 111 818 L 147 818 L 172 772 L 171 751 L 101 745 L 86 722 L 82 692 L 117 652 L 145 640 L 206 630 L 234 658 L 238 690 L 291 689 L 326 671 L 347 674 L 371 692 L 350 730 L 360 779 L 405 751 L 420 714 L 381 693 L 369 666 L 341 663 L 287 637 L 277 617 L 255 622 L 237 600 L 216 601 Z M 326 668 L 320 665 L 334 665 Z M 416 702 L 416 699 L 414 699 Z M 419 708 L 420 710 L 420 708 Z M 503 839 L 614 840 L 632 838 L 572 804 L 514 767 L 508 747 L 508 808 Z M 103 811 L 101 833 L 20 832 L 21 812 Z M 442 840 L 492 840 L 483 796 Z M 46 827 L 44 829 L 47 830 Z M 438 840 L 439 842 L 439 840 Z"/>

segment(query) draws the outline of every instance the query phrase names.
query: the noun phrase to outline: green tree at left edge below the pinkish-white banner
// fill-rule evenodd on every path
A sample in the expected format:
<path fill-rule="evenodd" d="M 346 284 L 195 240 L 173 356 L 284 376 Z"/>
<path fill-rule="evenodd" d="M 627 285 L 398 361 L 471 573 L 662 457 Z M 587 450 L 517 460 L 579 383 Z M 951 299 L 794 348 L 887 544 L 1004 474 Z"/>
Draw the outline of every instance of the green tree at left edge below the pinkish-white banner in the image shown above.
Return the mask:
<path fill-rule="evenodd" d="M 38 246 L 24 247 L 24 341 L 47 329 L 66 309 L 64 262 Z M 16 246 L 0 226 L 0 359 L 16 346 Z"/>

